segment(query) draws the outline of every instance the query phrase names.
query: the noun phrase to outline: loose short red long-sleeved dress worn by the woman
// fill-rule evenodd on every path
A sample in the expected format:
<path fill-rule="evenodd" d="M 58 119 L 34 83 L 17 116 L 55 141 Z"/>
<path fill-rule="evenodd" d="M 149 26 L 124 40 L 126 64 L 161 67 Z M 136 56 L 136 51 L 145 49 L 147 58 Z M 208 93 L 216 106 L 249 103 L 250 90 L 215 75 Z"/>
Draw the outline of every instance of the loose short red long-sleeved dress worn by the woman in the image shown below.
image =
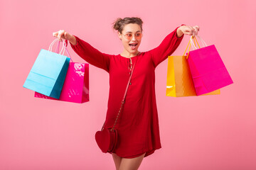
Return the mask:
<path fill-rule="evenodd" d="M 158 47 L 132 57 L 132 63 L 137 60 L 137 64 L 116 125 L 118 142 L 113 153 L 119 157 L 133 158 L 145 152 L 144 157 L 147 157 L 161 148 L 154 71 L 181 43 L 183 35 L 178 38 L 176 30 L 169 33 Z M 129 79 L 129 58 L 102 53 L 80 38 L 75 38 L 77 45 L 70 43 L 73 50 L 88 63 L 110 74 L 105 128 L 112 128 Z"/>

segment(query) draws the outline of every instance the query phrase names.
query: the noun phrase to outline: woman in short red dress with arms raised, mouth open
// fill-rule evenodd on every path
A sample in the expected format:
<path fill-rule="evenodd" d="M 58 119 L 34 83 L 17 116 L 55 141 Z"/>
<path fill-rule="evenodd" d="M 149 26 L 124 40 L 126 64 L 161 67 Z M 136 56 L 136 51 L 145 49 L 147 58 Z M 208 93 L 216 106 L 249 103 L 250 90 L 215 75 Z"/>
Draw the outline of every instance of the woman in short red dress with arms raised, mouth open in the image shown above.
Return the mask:
<path fill-rule="evenodd" d="M 141 18 L 117 18 L 113 28 L 122 40 L 124 50 L 108 55 L 65 30 L 53 36 L 68 40 L 75 52 L 85 61 L 105 69 L 110 74 L 110 96 L 105 128 L 112 128 L 121 106 L 129 74 L 136 62 L 122 112 L 117 120 L 118 142 L 112 154 L 116 169 L 138 169 L 144 157 L 161 148 L 159 120 L 156 109 L 155 74 L 158 64 L 171 55 L 183 35 L 198 35 L 198 26 L 181 25 L 164 38 L 161 44 L 147 52 L 139 52 L 142 42 Z"/>

